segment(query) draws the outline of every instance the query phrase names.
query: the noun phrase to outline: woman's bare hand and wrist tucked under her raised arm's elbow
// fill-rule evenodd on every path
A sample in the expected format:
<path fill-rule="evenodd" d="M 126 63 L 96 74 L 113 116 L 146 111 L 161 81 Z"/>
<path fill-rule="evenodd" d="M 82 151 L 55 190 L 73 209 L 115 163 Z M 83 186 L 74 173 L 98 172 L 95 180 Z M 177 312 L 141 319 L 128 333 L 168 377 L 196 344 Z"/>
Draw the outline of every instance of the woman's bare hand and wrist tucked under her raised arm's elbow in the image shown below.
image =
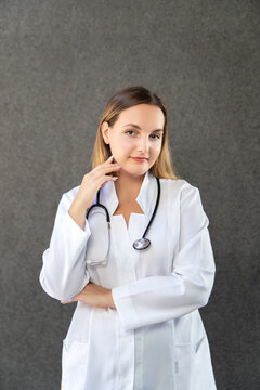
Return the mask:
<path fill-rule="evenodd" d="M 112 291 L 108 288 L 104 288 L 90 282 L 72 301 L 62 301 L 61 303 L 70 303 L 81 301 L 93 306 L 95 308 L 113 308 L 116 309 L 114 303 Z"/>

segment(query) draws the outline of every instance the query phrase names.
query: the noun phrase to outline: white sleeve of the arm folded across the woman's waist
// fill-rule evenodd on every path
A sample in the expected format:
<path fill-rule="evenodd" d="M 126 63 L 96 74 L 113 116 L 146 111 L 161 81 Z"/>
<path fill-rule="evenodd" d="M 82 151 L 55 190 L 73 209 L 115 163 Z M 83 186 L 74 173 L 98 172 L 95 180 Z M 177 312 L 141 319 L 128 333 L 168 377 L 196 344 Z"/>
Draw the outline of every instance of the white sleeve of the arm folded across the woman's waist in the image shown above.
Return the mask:
<path fill-rule="evenodd" d="M 216 272 L 208 224 L 199 190 L 184 185 L 180 194 L 179 251 L 172 272 L 112 289 L 126 330 L 177 318 L 207 304 Z"/>

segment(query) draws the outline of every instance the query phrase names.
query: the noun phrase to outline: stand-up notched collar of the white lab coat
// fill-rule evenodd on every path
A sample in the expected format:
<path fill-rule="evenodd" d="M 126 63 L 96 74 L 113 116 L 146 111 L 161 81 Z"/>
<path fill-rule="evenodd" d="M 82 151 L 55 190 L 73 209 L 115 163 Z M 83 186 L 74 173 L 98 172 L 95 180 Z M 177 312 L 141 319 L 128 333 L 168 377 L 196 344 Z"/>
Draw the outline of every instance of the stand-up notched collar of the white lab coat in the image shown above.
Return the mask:
<path fill-rule="evenodd" d="M 145 214 L 150 214 L 151 210 L 154 209 L 156 197 L 156 178 L 148 170 L 144 176 L 139 195 L 136 197 L 136 202 Z M 103 188 L 101 188 L 100 202 L 102 205 L 106 206 L 109 216 L 112 217 L 119 204 L 114 181 L 108 180 Z"/>

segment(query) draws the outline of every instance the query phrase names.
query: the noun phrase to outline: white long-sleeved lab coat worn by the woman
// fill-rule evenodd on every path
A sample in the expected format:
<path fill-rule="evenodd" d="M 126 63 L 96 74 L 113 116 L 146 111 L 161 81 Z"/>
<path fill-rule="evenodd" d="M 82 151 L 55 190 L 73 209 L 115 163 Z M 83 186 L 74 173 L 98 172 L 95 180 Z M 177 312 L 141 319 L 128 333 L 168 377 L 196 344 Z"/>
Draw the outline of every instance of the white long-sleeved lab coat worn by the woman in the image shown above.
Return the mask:
<path fill-rule="evenodd" d="M 112 289 L 117 310 L 78 302 L 63 341 L 63 390 L 216 390 L 208 338 L 198 309 L 214 281 L 214 259 L 199 190 L 185 180 L 160 179 L 160 203 L 147 233 L 148 249 L 135 250 L 154 210 L 155 177 L 147 171 L 129 227 L 113 216 L 113 181 L 101 190 L 110 214 L 108 263 L 104 211 L 92 210 L 84 230 L 68 213 L 79 185 L 63 194 L 40 283 L 57 300 L 72 300 L 89 281 Z M 96 200 L 96 197 L 94 202 Z M 103 213 L 102 213 L 103 212 Z"/>

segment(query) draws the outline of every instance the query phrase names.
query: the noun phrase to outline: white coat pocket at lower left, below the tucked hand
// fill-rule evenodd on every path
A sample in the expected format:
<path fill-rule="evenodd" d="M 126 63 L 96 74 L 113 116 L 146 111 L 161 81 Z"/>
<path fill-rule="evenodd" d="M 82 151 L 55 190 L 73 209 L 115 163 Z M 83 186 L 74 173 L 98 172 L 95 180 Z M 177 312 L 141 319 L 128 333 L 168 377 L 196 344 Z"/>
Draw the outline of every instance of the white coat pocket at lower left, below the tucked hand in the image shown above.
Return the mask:
<path fill-rule="evenodd" d="M 63 340 L 62 353 L 62 389 L 83 390 L 88 365 L 88 342 L 74 341 L 67 346 Z"/>

